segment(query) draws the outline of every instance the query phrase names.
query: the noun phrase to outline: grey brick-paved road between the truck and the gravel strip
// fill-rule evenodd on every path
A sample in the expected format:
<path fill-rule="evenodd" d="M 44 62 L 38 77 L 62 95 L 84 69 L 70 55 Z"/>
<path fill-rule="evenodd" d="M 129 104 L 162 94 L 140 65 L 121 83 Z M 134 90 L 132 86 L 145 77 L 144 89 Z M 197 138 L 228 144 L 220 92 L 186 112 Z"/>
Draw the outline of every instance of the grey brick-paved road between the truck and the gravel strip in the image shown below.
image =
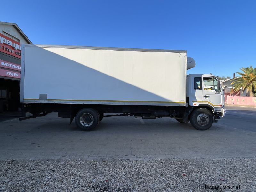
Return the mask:
<path fill-rule="evenodd" d="M 92 132 L 45 117 L 0 123 L 0 159 L 229 158 L 256 156 L 256 108 L 227 106 L 206 131 L 175 119 L 104 118 Z"/>

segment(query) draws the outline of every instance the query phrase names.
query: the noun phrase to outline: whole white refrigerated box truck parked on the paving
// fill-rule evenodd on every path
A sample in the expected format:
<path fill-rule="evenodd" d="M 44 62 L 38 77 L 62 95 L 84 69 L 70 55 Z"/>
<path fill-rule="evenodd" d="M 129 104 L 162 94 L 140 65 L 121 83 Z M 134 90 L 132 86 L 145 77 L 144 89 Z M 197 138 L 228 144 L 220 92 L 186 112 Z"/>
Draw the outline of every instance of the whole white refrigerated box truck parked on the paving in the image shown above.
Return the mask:
<path fill-rule="evenodd" d="M 214 75 L 186 75 L 194 66 L 180 50 L 23 44 L 20 102 L 32 116 L 20 120 L 57 111 L 91 131 L 110 116 L 171 117 L 206 130 L 225 116 L 224 92 Z"/>

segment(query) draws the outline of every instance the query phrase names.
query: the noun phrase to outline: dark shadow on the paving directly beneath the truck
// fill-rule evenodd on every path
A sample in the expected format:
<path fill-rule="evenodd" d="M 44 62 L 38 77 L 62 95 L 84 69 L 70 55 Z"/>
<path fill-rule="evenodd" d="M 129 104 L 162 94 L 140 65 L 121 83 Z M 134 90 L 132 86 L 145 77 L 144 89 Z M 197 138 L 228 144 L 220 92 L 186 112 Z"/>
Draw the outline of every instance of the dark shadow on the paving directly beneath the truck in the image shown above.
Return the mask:
<path fill-rule="evenodd" d="M 54 132 L 81 132 L 81 134 L 86 134 L 89 132 L 82 131 L 80 128 L 76 126 L 75 120 L 69 125 L 69 119 L 63 119 L 59 118 L 57 119 L 50 120 L 47 123 L 46 122 L 41 122 L 39 123 L 40 125 L 31 126 L 30 130 L 35 132 L 36 130 L 41 131 L 54 131 Z M 29 121 L 29 120 L 28 120 Z M 33 121 L 33 120 L 32 120 Z M 32 123 L 32 122 L 31 122 Z M 34 128 L 33 128 L 34 127 Z M 195 130 L 191 126 L 190 123 L 179 123 L 175 119 L 171 118 L 162 118 L 162 119 L 139 119 L 139 118 L 134 118 L 134 117 L 119 117 L 116 119 L 111 119 L 111 118 L 105 118 L 103 119 L 100 124 L 91 132 L 102 132 L 102 131 L 109 131 L 109 132 L 133 132 L 136 130 L 144 130 L 146 132 L 151 132 L 151 131 L 168 131 L 168 132 L 173 132 L 175 130 L 183 130 L 183 131 L 188 131 L 188 130 Z"/>

